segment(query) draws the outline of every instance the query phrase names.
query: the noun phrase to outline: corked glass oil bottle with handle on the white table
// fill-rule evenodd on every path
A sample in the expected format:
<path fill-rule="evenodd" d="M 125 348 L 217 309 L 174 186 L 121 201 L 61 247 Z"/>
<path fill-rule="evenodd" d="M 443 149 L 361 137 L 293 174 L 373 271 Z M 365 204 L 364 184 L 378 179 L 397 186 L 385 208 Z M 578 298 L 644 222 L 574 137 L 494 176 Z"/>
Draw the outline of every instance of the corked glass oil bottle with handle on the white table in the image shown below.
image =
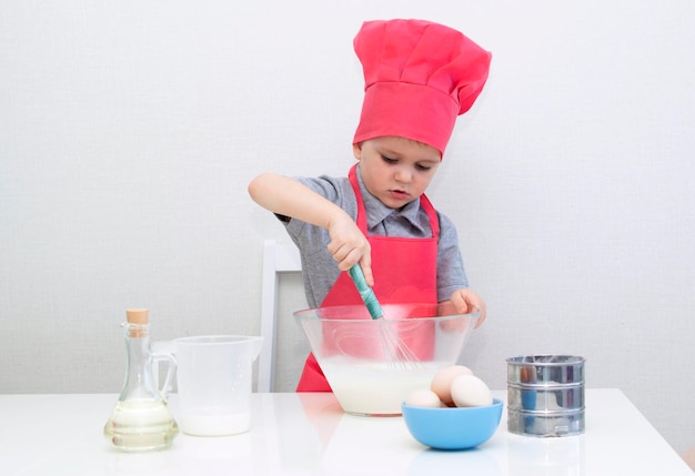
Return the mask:
<path fill-rule="evenodd" d="M 179 426 L 167 406 L 167 397 L 175 373 L 170 355 L 152 355 L 147 310 L 128 310 L 125 328 L 127 368 L 123 391 L 107 422 L 103 433 L 123 452 L 148 452 L 171 446 Z M 164 388 L 160 393 L 152 365 L 169 361 Z"/>

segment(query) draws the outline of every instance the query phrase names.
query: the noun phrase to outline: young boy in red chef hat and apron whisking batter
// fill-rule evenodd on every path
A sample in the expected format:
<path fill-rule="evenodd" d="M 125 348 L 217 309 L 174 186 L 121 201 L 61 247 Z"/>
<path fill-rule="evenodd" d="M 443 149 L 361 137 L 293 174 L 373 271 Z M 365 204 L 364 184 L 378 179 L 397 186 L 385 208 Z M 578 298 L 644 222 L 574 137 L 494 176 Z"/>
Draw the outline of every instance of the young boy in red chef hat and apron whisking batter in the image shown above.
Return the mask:
<path fill-rule="evenodd" d="M 383 304 L 481 310 L 469 290 L 456 229 L 424 195 L 454 128 L 481 93 L 491 54 L 425 20 L 364 22 L 354 39 L 365 95 L 348 178 L 261 174 L 249 193 L 300 250 L 311 307 L 359 304 L 344 271 L 360 263 Z M 313 355 L 298 392 L 330 392 Z"/>

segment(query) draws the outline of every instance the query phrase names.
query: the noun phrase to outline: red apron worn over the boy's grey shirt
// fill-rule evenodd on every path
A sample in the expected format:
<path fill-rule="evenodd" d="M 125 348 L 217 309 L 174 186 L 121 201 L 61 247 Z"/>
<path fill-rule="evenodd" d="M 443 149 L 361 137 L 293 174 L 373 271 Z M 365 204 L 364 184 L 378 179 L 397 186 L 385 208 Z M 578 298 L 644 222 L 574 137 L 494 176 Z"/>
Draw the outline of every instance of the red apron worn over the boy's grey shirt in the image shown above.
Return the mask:
<path fill-rule="evenodd" d="M 366 212 L 355 169 L 356 164 L 350 169 L 349 179 L 357 199 L 357 226 L 372 247 L 373 290 L 379 302 L 382 304 L 436 304 L 436 251 L 440 222 L 434 207 L 424 194 L 420 196 L 420 206 L 430 216 L 432 237 L 367 235 Z M 362 298 L 350 274 L 342 272 L 321 303 L 321 307 L 361 303 Z M 313 354 L 309 354 L 306 358 L 296 392 L 331 392 L 331 386 Z"/>

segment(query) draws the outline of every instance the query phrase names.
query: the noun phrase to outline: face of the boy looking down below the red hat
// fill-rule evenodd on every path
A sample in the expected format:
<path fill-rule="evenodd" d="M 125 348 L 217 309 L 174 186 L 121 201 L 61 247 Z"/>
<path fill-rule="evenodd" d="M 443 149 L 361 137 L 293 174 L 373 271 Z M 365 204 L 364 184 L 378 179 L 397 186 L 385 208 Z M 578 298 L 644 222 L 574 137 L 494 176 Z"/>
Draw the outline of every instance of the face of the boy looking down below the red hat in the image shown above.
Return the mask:
<path fill-rule="evenodd" d="M 424 193 L 441 162 L 435 148 L 397 136 L 370 139 L 353 151 L 366 190 L 396 210 Z"/>

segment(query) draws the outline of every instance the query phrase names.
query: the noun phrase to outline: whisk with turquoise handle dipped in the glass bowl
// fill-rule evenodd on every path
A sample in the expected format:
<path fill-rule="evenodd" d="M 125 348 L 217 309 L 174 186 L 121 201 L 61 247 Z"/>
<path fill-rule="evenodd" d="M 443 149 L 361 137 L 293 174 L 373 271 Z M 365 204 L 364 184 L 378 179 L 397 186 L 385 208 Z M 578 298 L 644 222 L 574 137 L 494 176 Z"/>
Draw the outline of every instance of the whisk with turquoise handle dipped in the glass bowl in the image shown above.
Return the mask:
<path fill-rule="evenodd" d="M 372 320 L 380 321 L 377 323 L 379 332 L 389 365 L 399 369 L 419 367 L 420 359 L 417 358 L 417 355 L 415 355 L 407 344 L 399 336 L 397 330 L 391 325 L 392 323 L 386 322 L 384 318 L 384 311 L 381 308 L 381 304 L 379 304 L 379 300 L 376 300 L 374 291 L 369 284 L 366 284 L 366 280 L 360 264 L 352 266 L 348 273 L 355 283 L 360 297 L 362 297 L 362 301 L 364 302 Z"/>

